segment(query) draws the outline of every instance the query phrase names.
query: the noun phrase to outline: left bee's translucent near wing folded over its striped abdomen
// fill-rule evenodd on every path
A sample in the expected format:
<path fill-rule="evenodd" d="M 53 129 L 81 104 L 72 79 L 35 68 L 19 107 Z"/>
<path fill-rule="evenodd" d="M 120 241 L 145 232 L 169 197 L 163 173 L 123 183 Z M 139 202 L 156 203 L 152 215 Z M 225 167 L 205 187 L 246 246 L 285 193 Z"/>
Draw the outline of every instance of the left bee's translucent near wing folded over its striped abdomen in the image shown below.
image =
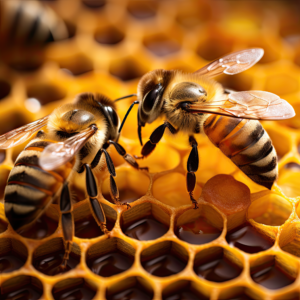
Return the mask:
<path fill-rule="evenodd" d="M 45 170 L 54 170 L 66 164 L 96 131 L 96 128 L 89 127 L 63 142 L 48 145 L 40 156 L 40 166 Z"/>

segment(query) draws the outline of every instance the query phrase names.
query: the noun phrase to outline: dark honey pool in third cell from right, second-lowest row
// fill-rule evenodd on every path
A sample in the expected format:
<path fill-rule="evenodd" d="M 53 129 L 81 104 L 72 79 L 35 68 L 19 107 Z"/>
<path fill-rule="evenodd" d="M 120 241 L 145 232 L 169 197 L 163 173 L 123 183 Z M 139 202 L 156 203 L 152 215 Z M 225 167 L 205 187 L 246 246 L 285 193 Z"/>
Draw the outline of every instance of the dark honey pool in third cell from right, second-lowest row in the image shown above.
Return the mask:
<path fill-rule="evenodd" d="M 150 274 L 158 277 L 166 277 L 181 272 L 187 262 L 173 254 L 163 254 L 142 262 L 143 268 Z"/>

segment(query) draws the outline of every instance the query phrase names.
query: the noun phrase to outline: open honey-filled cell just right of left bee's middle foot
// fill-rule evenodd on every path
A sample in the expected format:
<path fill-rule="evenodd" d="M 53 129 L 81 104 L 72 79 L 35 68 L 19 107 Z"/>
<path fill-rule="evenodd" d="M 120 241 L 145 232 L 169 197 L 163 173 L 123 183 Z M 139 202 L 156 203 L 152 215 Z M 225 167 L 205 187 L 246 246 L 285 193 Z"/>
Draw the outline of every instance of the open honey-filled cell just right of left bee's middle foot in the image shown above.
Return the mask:
<path fill-rule="evenodd" d="M 120 222 L 125 235 L 139 241 L 149 241 L 168 232 L 170 215 L 158 205 L 146 202 L 123 212 Z"/>

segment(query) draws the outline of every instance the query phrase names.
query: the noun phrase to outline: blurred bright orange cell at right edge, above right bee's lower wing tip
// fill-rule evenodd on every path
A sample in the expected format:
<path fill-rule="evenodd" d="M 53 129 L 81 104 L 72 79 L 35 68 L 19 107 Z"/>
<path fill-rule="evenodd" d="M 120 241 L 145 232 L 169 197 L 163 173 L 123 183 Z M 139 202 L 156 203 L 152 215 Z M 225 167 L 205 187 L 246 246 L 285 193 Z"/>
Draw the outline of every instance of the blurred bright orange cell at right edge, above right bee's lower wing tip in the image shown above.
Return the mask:
<path fill-rule="evenodd" d="M 291 74 L 293 74 L 291 72 Z M 299 90 L 299 80 L 288 72 L 286 74 L 274 74 L 266 78 L 264 90 L 276 95 L 295 93 Z"/>

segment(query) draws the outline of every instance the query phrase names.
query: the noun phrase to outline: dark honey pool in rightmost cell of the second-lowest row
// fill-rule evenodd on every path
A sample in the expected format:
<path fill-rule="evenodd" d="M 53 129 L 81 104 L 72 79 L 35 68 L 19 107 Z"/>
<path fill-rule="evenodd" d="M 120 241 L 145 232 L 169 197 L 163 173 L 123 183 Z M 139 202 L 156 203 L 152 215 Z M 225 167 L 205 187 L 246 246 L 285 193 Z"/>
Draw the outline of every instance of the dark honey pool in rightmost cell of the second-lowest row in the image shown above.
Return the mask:
<path fill-rule="evenodd" d="M 271 290 L 283 288 L 295 281 L 295 278 L 282 270 L 274 260 L 253 268 L 251 277 L 256 283 Z"/>

